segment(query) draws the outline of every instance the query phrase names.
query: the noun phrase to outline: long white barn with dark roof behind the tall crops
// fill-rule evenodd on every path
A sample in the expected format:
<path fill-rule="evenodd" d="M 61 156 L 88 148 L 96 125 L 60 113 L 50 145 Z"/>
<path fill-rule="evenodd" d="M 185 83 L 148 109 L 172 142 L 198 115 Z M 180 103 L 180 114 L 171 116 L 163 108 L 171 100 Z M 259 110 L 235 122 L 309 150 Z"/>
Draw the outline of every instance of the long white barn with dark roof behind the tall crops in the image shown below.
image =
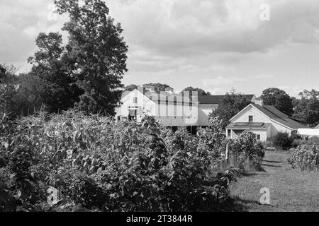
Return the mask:
<path fill-rule="evenodd" d="M 146 92 L 145 92 L 146 90 Z M 153 87 L 125 91 L 122 105 L 116 109 L 117 120 L 135 120 L 140 122 L 145 114 L 155 116 L 164 126 L 209 126 L 208 116 L 223 101 L 223 95 L 182 95 L 174 93 L 172 88 L 155 93 Z M 255 95 L 245 95 L 255 100 Z"/>

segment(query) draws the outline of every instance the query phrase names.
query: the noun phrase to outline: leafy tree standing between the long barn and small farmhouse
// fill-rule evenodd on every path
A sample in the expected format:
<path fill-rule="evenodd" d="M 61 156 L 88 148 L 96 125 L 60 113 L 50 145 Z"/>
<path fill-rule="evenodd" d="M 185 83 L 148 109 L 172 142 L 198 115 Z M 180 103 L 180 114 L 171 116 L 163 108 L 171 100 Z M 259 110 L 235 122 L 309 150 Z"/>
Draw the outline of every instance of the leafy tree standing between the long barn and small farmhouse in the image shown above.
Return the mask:
<path fill-rule="evenodd" d="M 223 101 L 218 108 L 210 114 L 210 117 L 219 117 L 219 119 L 222 120 L 223 129 L 225 129 L 230 123 L 229 120 L 247 107 L 247 105 L 250 105 L 250 100 L 247 100 L 247 97 L 244 95 L 226 93 L 225 97 L 223 97 Z"/>

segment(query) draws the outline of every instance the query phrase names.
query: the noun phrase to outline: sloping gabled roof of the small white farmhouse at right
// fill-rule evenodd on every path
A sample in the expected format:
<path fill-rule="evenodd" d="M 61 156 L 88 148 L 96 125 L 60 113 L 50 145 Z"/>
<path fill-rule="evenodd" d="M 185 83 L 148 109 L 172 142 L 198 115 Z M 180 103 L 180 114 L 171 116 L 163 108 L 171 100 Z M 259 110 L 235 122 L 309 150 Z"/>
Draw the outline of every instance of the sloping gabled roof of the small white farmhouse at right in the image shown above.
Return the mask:
<path fill-rule="evenodd" d="M 262 107 L 260 105 L 250 104 L 247 107 L 249 107 L 249 106 L 253 106 L 253 107 L 257 108 L 260 112 L 265 114 L 270 119 L 278 122 L 279 124 L 283 124 L 284 126 L 287 126 L 290 129 L 308 128 L 307 126 L 299 123 L 298 121 L 295 121 L 295 120 L 289 118 L 288 115 L 279 111 L 279 109 L 276 109 L 276 107 L 274 107 L 272 105 L 264 105 Z M 243 112 L 247 107 L 242 109 L 241 112 Z M 238 114 L 240 114 L 241 112 L 239 112 Z M 232 119 L 234 119 L 238 114 L 236 114 Z M 232 119 L 230 119 L 230 120 L 232 120 Z"/>

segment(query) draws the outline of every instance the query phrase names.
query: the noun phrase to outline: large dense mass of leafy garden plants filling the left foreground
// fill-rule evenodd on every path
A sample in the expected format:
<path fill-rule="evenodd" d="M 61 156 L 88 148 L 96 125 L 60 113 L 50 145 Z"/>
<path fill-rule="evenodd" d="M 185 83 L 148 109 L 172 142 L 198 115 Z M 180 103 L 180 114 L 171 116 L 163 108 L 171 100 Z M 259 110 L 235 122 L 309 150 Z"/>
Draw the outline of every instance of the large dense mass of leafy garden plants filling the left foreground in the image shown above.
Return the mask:
<path fill-rule="evenodd" d="M 75 110 L 16 122 L 4 116 L 1 210 L 223 210 L 235 171 L 219 172 L 214 161 L 224 145 L 218 131 L 194 137 L 153 117 L 115 123 Z"/>

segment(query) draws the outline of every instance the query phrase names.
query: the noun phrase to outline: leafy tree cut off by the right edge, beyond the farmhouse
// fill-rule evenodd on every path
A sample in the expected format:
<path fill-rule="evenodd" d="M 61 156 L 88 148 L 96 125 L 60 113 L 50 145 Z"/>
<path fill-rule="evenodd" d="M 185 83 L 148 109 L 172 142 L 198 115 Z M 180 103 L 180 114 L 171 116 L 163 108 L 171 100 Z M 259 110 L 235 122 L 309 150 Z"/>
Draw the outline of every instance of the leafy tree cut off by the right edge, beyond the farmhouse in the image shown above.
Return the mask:
<path fill-rule="evenodd" d="M 304 90 L 299 94 L 301 99 L 294 109 L 293 117 L 306 121 L 311 126 L 319 124 L 319 99 L 318 91 L 311 90 L 310 92 Z"/>

